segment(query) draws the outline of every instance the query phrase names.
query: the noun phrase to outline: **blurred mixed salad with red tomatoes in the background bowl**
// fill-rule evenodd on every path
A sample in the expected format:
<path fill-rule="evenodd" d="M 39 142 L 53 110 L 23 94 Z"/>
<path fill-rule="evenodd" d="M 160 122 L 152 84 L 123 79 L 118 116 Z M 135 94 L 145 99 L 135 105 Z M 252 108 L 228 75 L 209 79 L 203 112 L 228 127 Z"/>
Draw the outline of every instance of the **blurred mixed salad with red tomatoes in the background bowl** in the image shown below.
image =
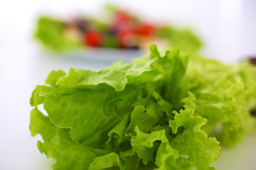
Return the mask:
<path fill-rule="evenodd" d="M 144 21 L 119 8 L 106 12 L 103 19 L 80 16 L 69 21 L 41 16 L 36 39 L 48 50 L 62 52 L 83 47 L 143 49 L 154 42 L 192 52 L 202 46 L 191 30 Z"/>

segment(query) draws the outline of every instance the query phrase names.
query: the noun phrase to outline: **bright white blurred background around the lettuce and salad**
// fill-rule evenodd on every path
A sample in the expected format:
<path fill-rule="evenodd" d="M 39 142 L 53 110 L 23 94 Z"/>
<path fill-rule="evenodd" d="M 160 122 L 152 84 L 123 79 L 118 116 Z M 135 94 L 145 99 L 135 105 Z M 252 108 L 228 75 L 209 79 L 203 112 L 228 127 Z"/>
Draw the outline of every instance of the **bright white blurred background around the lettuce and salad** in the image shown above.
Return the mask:
<path fill-rule="evenodd" d="M 256 55 L 255 0 L 107 1 L 127 7 L 145 18 L 189 26 L 203 38 L 203 54 L 223 62 Z M 0 1 L 0 170 L 50 169 L 53 160 L 38 152 L 28 130 L 29 98 L 37 84 L 44 84 L 52 69 L 70 67 L 99 70 L 108 62 L 52 57 L 33 41 L 40 13 L 68 16 L 97 14 L 106 1 Z M 256 169 L 255 136 L 231 150 L 224 149 L 218 169 Z M 245 168 L 246 166 L 246 168 Z"/>

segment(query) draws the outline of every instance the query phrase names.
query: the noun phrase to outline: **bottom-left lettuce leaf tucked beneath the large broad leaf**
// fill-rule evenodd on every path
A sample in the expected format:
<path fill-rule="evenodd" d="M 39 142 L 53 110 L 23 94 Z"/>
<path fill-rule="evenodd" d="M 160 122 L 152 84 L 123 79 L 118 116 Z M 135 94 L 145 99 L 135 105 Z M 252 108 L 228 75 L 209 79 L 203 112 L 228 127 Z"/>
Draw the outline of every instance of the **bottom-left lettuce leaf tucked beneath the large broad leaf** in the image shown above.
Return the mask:
<path fill-rule="evenodd" d="M 74 142 L 68 129 L 55 127 L 49 118 L 36 108 L 31 111 L 30 130 L 33 136 L 40 133 L 43 137 L 43 142 L 38 141 L 40 152 L 57 159 L 53 169 L 88 169 L 96 157 L 108 154 L 107 150 Z"/>

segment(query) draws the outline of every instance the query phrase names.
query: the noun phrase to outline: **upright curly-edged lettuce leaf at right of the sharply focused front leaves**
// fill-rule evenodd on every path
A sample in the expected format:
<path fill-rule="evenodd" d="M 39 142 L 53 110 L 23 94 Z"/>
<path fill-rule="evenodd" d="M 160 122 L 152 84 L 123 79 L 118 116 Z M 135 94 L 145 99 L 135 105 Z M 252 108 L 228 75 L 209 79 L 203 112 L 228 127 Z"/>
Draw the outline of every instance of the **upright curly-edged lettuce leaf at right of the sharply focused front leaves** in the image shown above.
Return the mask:
<path fill-rule="evenodd" d="M 171 146 L 178 149 L 181 155 L 186 155 L 186 162 L 191 164 L 188 169 L 213 169 L 208 164 L 216 162 L 216 158 L 220 155 L 219 142 L 215 137 L 208 137 L 206 132 L 201 130 L 201 126 L 205 125 L 207 120 L 199 115 L 194 116 L 196 97 L 189 92 L 183 103 L 184 110 L 180 113 L 175 112 L 174 120 L 170 120 L 170 126 L 174 133 L 181 126 L 185 130 L 174 138 Z"/>

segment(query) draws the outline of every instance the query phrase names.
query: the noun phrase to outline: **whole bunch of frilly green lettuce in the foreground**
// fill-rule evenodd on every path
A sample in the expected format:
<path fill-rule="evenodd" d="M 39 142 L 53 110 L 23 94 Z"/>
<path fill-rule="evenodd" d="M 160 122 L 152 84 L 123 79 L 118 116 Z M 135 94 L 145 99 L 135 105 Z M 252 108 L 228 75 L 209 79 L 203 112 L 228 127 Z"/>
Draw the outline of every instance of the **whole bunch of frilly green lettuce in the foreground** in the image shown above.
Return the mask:
<path fill-rule="evenodd" d="M 214 169 L 220 146 L 255 132 L 248 62 L 149 50 L 100 72 L 53 71 L 36 86 L 31 135 L 43 137 L 38 149 L 56 159 L 53 169 Z"/>

